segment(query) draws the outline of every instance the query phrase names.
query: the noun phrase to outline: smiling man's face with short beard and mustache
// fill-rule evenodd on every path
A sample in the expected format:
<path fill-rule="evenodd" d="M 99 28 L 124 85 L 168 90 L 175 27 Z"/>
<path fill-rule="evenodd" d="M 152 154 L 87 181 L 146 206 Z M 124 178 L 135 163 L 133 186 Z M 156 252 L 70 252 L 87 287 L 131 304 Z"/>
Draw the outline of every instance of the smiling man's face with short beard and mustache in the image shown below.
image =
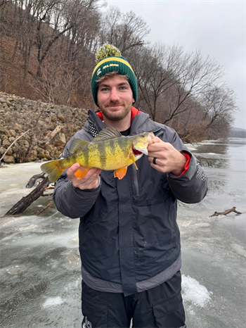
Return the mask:
<path fill-rule="evenodd" d="M 124 119 L 134 103 L 129 82 L 120 75 L 108 77 L 98 87 L 98 107 L 108 120 Z"/>

